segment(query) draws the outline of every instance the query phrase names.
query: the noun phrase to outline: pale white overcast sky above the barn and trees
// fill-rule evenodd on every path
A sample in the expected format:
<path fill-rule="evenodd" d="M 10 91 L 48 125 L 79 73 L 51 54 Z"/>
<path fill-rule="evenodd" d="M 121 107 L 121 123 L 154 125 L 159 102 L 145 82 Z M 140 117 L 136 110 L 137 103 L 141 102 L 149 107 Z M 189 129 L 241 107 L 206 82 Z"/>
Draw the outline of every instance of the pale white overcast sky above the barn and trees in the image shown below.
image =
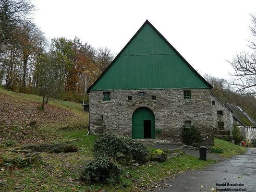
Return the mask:
<path fill-rule="evenodd" d="M 246 50 L 256 0 L 32 0 L 48 39 L 74 36 L 117 55 L 147 20 L 201 75 L 229 79 Z"/>

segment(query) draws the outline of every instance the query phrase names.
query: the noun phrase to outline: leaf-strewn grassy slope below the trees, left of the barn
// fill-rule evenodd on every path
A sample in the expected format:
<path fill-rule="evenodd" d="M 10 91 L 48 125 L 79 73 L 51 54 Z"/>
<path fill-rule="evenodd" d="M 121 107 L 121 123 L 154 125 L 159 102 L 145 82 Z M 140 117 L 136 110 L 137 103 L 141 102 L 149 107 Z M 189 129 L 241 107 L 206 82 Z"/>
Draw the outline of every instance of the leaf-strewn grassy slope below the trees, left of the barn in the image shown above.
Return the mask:
<path fill-rule="evenodd" d="M 38 107 L 42 97 L 15 93 L 0 88 L 0 137 L 16 140 L 16 143 L 51 142 L 64 130 L 86 129 L 88 113 L 80 104 L 50 98 L 45 111 Z M 28 126 L 37 120 L 37 128 Z M 1 123 L 3 122 L 3 123 Z M 0 141 L 1 142 L 1 141 Z"/>

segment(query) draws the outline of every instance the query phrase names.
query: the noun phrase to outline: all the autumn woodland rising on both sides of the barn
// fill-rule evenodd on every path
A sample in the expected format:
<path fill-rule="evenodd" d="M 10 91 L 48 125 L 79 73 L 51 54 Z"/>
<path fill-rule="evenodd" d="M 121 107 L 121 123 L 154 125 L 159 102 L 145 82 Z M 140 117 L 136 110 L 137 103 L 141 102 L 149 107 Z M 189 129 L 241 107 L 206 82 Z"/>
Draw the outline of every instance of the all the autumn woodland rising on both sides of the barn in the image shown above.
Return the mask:
<path fill-rule="evenodd" d="M 8 90 L 82 102 L 87 88 L 114 59 L 109 48 L 94 48 L 79 37 L 48 41 L 33 23 L 30 0 L 0 0 L 0 84 Z M 212 94 L 243 108 L 256 120 L 256 18 L 250 52 L 229 61 L 233 80 L 204 75 Z M 89 37 L 88 37 L 89 38 Z"/>

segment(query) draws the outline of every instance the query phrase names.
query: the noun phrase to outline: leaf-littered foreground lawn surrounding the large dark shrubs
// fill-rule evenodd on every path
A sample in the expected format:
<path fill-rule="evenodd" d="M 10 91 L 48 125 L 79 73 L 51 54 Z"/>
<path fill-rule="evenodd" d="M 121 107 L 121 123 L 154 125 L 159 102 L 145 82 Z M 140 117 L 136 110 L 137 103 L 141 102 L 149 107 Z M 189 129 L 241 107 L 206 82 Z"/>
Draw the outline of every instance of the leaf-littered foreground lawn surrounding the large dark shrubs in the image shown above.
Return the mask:
<path fill-rule="evenodd" d="M 7 180 L 1 186 L 3 191 L 24 192 L 70 192 L 70 191 L 140 191 L 141 188 L 152 188 L 154 183 L 161 182 L 166 177 L 176 177 L 188 169 L 204 168 L 214 160 L 200 161 L 188 155 L 180 155 L 166 162 L 149 161 L 140 167 L 124 168 L 120 183 L 116 185 L 81 184 L 79 177 L 82 167 L 92 156 L 92 147 L 98 136 L 86 135 L 85 131 L 62 132 L 66 139 L 79 138 L 73 144 L 79 146 L 78 153 L 48 154 L 42 153 L 43 163 L 31 165 L 23 169 L 5 169 L 1 171 L 2 179 Z M 70 179 L 71 178 L 71 179 Z"/>

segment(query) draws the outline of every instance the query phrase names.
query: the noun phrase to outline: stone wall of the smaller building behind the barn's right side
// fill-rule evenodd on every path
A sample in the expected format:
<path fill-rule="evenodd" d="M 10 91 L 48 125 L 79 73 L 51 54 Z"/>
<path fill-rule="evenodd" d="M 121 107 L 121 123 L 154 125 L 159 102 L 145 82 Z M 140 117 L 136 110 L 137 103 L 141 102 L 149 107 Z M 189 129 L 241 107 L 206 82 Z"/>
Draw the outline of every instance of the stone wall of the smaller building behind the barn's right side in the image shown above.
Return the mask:
<path fill-rule="evenodd" d="M 218 99 L 211 96 L 211 100 L 215 101 L 215 105 L 211 105 L 212 107 L 212 121 L 213 128 L 218 130 L 218 122 L 224 122 L 224 130 L 230 130 L 232 132 L 233 118 L 232 112 L 224 106 Z M 223 116 L 218 117 L 217 111 L 222 110 Z"/>

